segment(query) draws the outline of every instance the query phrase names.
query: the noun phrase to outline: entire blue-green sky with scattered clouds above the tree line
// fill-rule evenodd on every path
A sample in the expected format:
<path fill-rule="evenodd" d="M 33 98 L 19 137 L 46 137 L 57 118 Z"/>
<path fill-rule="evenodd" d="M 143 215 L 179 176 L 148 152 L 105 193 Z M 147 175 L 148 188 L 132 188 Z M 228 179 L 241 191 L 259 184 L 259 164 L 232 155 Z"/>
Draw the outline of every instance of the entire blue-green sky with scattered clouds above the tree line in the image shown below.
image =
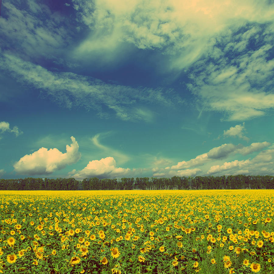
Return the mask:
<path fill-rule="evenodd" d="M 3 0 L 0 178 L 274 175 L 274 1 Z"/>

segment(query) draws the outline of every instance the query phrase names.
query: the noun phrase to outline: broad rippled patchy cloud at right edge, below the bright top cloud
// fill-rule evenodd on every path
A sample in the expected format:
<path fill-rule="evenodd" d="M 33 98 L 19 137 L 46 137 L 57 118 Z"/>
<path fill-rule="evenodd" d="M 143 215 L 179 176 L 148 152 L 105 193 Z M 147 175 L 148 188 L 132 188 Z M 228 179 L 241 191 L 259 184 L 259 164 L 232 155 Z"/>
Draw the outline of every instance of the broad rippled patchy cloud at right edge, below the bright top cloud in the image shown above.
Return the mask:
<path fill-rule="evenodd" d="M 214 38 L 208 54 L 189 68 L 188 89 L 205 111 L 245 121 L 273 109 L 272 29 L 269 22 L 235 26 Z"/>

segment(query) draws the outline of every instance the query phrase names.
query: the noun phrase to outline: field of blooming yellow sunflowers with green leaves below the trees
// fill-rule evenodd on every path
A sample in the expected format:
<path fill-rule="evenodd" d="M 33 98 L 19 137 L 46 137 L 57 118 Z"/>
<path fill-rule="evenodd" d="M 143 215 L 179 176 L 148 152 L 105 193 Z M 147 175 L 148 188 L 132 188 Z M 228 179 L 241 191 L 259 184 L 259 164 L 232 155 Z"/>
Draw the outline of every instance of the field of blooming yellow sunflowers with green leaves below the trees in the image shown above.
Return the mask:
<path fill-rule="evenodd" d="M 0 197 L 0 272 L 274 273 L 273 190 Z"/>

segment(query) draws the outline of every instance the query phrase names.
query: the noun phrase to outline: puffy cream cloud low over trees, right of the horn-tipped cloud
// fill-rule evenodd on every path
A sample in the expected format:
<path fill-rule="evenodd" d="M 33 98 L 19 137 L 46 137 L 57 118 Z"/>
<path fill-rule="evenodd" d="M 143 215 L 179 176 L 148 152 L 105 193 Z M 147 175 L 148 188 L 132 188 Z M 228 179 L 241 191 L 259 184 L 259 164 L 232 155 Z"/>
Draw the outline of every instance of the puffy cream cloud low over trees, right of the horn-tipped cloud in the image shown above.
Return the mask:
<path fill-rule="evenodd" d="M 113 157 L 102 158 L 101 160 L 90 161 L 85 168 L 71 175 L 77 180 L 86 177 L 99 178 L 121 178 L 132 176 L 134 170 L 129 168 L 116 167 L 116 161 Z"/>

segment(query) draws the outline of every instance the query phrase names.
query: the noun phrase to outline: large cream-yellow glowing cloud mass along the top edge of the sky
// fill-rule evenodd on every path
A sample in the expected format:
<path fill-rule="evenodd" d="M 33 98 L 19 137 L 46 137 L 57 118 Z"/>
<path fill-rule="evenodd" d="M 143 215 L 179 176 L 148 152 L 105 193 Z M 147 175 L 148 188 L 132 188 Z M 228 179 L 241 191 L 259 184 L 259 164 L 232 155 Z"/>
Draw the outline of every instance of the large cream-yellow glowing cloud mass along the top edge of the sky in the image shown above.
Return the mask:
<path fill-rule="evenodd" d="M 272 20 L 268 1 L 198 0 L 73 0 L 78 20 L 90 28 L 80 45 L 84 52 L 98 45 L 113 50 L 121 43 L 139 49 L 153 49 L 173 56 L 171 67 L 183 69 L 197 61 L 209 48 L 211 39 L 247 22 Z"/>

